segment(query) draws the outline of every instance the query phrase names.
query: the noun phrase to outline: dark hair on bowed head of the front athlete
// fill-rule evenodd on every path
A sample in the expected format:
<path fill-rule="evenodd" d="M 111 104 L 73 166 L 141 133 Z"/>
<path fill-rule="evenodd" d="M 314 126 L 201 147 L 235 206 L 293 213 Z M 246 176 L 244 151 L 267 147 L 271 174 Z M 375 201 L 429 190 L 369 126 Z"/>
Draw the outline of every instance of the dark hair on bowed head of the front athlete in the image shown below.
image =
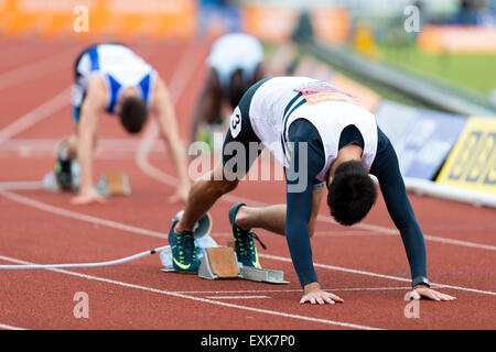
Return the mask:
<path fill-rule="evenodd" d="M 345 162 L 337 166 L 327 195 L 327 206 L 337 222 L 352 226 L 360 221 L 376 198 L 376 186 L 360 162 Z"/>

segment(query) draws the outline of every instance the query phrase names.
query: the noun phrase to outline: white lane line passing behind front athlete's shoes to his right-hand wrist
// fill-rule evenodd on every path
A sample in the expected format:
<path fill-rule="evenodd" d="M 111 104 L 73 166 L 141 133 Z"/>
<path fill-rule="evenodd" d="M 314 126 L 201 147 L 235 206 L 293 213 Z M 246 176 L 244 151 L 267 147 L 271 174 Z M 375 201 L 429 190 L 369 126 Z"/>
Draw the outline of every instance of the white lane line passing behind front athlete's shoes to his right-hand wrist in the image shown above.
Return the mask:
<path fill-rule="evenodd" d="M 111 221 L 111 220 L 105 220 L 105 219 L 97 218 L 97 217 L 86 216 L 86 215 L 83 215 L 83 213 L 79 213 L 79 212 L 75 212 L 75 211 L 71 211 L 71 210 L 66 210 L 66 209 L 63 209 L 63 208 L 57 208 L 57 207 L 54 207 L 54 206 L 51 206 L 51 205 L 46 205 L 44 202 L 34 200 L 34 199 L 31 199 L 31 198 L 28 198 L 28 197 L 24 197 L 24 196 L 20 196 L 20 195 L 13 194 L 13 193 L 8 191 L 8 190 L 1 190 L 0 189 L 0 195 L 6 197 L 6 198 L 8 198 L 8 199 L 13 200 L 13 201 L 17 201 L 17 202 L 20 202 L 20 204 L 23 204 L 23 205 L 26 205 L 26 206 L 30 206 L 30 207 L 33 207 L 33 208 L 36 208 L 36 209 L 40 209 L 40 210 L 53 212 L 53 213 L 58 215 L 58 216 L 68 217 L 68 218 L 73 218 L 73 219 L 82 220 L 82 221 L 87 221 L 87 222 L 93 222 L 93 223 L 97 223 L 97 224 L 100 224 L 100 226 L 106 226 L 106 227 L 118 229 L 118 230 L 122 230 L 122 231 L 128 231 L 128 232 L 132 232 L 132 233 L 144 234 L 144 235 L 150 235 L 150 237 L 160 238 L 160 239 L 166 239 L 166 237 L 168 237 L 165 233 L 162 233 L 162 232 L 145 230 L 145 229 L 138 228 L 138 227 L 128 226 L 128 224 L 123 224 L 123 223 Z M 276 260 L 276 261 L 280 261 L 280 262 L 292 263 L 291 258 L 289 258 L 289 257 L 270 255 L 270 254 L 263 254 L 263 253 L 259 253 L 259 256 L 260 257 Z M 332 270 L 332 271 L 346 272 L 346 273 L 353 273 L 353 274 L 360 274 L 360 275 L 373 276 L 373 277 L 380 277 L 380 278 L 386 278 L 386 279 L 395 279 L 395 280 L 408 282 L 408 283 L 411 282 L 410 279 L 403 278 L 403 277 L 377 274 L 377 273 L 371 273 L 371 272 L 358 271 L 358 270 L 354 270 L 354 268 L 346 268 L 346 267 L 341 267 L 341 266 L 334 266 L 334 265 L 326 265 L 326 264 L 314 263 L 314 266 L 315 267 L 326 268 L 326 270 Z M 484 295 L 496 296 L 496 293 L 489 292 L 489 290 L 481 290 L 481 289 L 475 289 L 475 288 L 467 288 L 467 287 L 452 286 L 452 285 L 436 284 L 436 283 L 431 283 L 431 284 L 432 285 L 436 285 L 438 287 L 443 287 L 443 288 L 452 288 L 452 289 L 472 292 L 472 293 L 476 293 L 476 294 L 484 294 Z"/>

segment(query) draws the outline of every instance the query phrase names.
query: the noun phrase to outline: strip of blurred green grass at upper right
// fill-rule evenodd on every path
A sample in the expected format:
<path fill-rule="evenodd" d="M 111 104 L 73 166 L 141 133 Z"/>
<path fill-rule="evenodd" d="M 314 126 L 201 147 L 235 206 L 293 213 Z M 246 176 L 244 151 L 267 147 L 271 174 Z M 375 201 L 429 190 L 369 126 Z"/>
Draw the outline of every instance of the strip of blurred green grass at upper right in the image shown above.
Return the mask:
<path fill-rule="evenodd" d="M 496 88 L 496 55 L 430 54 L 417 46 L 378 46 L 386 63 L 441 79 L 487 97 Z"/>

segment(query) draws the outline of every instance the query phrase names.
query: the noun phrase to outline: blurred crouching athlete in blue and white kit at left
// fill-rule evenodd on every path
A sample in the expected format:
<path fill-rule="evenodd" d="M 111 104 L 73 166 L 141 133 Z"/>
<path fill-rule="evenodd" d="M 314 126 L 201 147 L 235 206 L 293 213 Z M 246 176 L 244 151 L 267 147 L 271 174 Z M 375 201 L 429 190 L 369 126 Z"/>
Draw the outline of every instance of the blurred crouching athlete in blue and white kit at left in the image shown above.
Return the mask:
<path fill-rule="evenodd" d="M 93 153 L 101 112 L 118 116 L 131 134 L 143 129 L 150 112 L 155 116 L 179 178 L 170 200 L 185 199 L 190 179 L 174 107 L 165 84 L 151 65 L 122 44 L 93 45 L 76 58 L 72 105 L 76 131 L 58 146 L 55 175 L 61 189 L 78 188 L 73 204 L 104 201 L 93 183 Z M 80 168 L 78 187 L 74 187 L 71 173 L 75 157 Z"/>

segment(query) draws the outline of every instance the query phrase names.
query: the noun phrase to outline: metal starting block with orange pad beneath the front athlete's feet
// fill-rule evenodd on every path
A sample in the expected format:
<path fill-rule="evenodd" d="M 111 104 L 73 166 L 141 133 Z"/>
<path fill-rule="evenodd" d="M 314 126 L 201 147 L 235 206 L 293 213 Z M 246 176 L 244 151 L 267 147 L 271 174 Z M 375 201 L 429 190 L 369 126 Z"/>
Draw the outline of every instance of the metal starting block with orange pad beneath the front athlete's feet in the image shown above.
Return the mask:
<path fill-rule="evenodd" d="M 206 279 L 244 278 L 259 283 L 289 284 L 281 271 L 244 266 L 231 246 L 206 249 L 200 262 L 198 276 Z"/>

